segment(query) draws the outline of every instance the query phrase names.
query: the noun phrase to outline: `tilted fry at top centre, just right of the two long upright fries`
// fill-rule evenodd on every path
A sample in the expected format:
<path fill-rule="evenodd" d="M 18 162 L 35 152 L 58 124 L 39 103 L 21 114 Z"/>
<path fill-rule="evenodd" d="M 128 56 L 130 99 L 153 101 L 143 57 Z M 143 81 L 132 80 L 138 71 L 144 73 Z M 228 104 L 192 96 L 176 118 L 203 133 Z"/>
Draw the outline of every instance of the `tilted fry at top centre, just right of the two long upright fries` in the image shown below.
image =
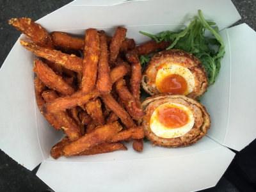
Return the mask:
<path fill-rule="evenodd" d="M 109 45 L 109 65 L 115 67 L 116 57 L 118 56 L 122 42 L 124 42 L 127 29 L 118 27 Z"/>

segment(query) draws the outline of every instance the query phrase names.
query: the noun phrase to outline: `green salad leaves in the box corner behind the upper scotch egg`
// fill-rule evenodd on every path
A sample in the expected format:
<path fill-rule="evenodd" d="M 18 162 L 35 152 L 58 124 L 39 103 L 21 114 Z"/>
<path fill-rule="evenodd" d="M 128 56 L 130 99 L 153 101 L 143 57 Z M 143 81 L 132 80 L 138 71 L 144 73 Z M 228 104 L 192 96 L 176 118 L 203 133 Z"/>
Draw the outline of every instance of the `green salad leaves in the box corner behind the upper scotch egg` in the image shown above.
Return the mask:
<path fill-rule="evenodd" d="M 172 42 L 166 50 L 181 49 L 195 55 L 204 66 L 209 85 L 211 85 L 220 72 L 220 59 L 225 54 L 225 45 L 218 34 L 219 29 L 215 26 L 216 23 L 205 21 L 201 10 L 198 10 L 198 14 L 200 19 L 191 20 L 189 26 L 178 33 L 172 31 L 164 31 L 160 35 L 152 35 L 143 31 L 140 31 L 140 33 L 149 36 L 156 42 Z M 206 38 L 204 36 L 206 30 L 211 31 L 213 36 Z M 143 68 L 145 68 L 152 55 L 141 56 L 140 61 Z"/>

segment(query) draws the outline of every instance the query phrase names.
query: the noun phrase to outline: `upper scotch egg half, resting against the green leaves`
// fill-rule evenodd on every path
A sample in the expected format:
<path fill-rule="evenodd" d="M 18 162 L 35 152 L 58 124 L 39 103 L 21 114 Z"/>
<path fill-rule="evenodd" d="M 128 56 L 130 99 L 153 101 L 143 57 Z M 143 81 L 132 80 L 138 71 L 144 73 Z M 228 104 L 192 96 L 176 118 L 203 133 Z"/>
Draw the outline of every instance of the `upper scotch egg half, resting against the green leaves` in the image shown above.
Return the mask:
<path fill-rule="evenodd" d="M 198 98 L 208 86 L 198 58 L 179 49 L 157 52 L 150 58 L 141 85 L 150 95 L 177 93 Z"/>

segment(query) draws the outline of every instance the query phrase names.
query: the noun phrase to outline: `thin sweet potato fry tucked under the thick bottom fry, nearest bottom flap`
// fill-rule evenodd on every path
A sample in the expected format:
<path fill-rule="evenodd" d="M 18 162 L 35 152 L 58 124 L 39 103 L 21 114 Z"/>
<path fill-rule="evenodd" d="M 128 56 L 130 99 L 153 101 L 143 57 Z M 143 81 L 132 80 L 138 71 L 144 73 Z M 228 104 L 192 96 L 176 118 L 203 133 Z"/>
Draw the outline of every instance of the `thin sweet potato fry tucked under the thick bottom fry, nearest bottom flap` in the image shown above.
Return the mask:
<path fill-rule="evenodd" d="M 101 143 L 99 145 L 96 145 L 95 147 L 88 149 L 88 150 L 84 150 L 84 152 L 81 152 L 81 154 L 79 154 L 79 156 L 104 154 L 104 153 L 108 153 L 108 152 L 113 152 L 115 150 L 127 150 L 127 147 L 125 147 L 125 145 L 120 142 Z"/>

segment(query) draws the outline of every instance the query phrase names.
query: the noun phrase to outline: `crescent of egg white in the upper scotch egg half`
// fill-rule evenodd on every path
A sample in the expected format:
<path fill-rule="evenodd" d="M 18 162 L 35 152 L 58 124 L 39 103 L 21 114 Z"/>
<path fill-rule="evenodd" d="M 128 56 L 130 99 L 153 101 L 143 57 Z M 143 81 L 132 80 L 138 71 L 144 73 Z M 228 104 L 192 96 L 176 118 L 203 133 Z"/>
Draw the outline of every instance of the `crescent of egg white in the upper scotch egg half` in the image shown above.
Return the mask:
<path fill-rule="evenodd" d="M 193 77 L 192 72 L 188 68 L 182 67 L 181 65 L 177 65 L 175 63 L 165 64 L 163 68 L 160 68 L 157 71 L 157 75 L 156 75 L 157 90 L 159 90 L 158 88 L 159 86 L 161 86 L 161 82 L 163 81 L 163 79 L 173 74 L 182 76 L 186 80 L 188 84 L 188 88 L 184 92 L 184 95 L 188 95 L 189 93 L 193 92 L 193 89 L 195 87 L 195 79 Z"/>

